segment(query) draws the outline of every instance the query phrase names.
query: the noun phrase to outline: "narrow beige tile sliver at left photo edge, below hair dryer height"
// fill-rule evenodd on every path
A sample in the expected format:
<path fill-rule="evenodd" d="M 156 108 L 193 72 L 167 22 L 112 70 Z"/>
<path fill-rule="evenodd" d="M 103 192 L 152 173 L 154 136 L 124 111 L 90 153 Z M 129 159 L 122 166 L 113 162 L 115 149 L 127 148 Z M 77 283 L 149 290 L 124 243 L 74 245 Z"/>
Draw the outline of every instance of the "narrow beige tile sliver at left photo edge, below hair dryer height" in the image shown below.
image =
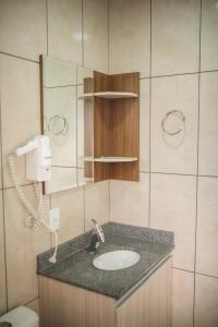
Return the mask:
<path fill-rule="evenodd" d="M 4 257 L 3 205 L 2 191 L 0 191 L 0 314 L 7 311 L 7 282 Z"/>

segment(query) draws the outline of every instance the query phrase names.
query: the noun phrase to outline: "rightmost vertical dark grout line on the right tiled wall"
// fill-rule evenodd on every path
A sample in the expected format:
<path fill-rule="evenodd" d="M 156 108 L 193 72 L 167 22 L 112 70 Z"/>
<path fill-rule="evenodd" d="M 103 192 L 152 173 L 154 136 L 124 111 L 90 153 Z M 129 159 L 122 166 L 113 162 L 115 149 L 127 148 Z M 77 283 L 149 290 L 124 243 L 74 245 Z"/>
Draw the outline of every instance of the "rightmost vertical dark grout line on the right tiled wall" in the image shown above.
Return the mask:
<path fill-rule="evenodd" d="M 196 175 L 196 216 L 195 216 L 195 252 L 194 252 L 194 295 L 193 295 L 193 326 L 195 326 L 195 294 L 196 294 L 196 256 L 197 256 L 197 222 L 198 222 L 198 173 L 199 173 L 199 109 L 201 109 L 201 47 L 202 47 L 202 0 L 199 2 L 199 45 L 198 45 L 198 114 L 197 114 L 197 175 Z"/>

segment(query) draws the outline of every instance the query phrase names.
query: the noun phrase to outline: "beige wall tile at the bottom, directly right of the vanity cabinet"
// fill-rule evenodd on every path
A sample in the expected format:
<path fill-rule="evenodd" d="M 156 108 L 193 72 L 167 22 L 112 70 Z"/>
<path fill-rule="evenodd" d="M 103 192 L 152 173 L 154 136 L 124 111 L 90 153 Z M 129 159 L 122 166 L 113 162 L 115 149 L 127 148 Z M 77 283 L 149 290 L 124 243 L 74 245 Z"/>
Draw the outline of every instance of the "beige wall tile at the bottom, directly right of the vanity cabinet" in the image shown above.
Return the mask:
<path fill-rule="evenodd" d="M 194 274 L 172 271 L 172 327 L 193 327 Z"/>

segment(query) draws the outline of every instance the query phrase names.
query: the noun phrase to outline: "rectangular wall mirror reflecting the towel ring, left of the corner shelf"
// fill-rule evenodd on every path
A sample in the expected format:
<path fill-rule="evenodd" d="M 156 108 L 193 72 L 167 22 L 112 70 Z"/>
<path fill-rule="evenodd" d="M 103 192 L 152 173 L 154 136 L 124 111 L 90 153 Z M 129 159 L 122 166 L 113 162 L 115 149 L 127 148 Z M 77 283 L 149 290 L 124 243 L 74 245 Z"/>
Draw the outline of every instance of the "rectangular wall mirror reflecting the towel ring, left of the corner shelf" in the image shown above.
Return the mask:
<path fill-rule="evenodd" d="M 50 194 L 94 182 L 92 70 L 48 56 L 40 56 L 41 133 L 50 137 L 51 179 L 44 193 Z"/>

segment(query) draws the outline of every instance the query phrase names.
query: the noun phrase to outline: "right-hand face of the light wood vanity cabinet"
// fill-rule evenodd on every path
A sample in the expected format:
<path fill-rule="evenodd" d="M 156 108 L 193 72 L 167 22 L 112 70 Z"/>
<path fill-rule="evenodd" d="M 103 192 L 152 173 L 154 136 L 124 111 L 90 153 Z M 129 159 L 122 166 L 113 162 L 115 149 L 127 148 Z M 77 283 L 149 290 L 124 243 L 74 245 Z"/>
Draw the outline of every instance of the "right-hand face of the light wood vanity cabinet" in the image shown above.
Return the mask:
<path fill-rule="evenodd" d="M 171 326 L 170 259 L 117 307 L 116 323 L 116 327 Z"/>

